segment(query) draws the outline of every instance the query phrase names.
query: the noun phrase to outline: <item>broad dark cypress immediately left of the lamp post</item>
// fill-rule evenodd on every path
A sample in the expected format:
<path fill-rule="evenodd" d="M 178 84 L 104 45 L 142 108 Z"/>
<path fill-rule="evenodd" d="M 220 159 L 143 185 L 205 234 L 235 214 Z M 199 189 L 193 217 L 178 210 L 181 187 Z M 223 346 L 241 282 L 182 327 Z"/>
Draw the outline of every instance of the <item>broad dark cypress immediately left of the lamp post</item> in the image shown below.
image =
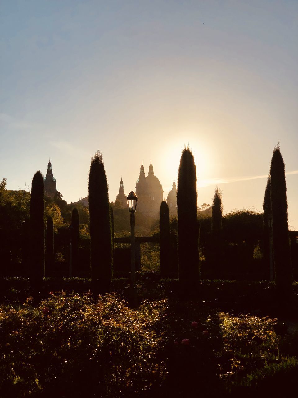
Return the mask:
<path fill-rule="evenodd" d="M 91 281 L 93 293 L 106 293 L 112 280 L 112 235 L 108 183 L 103 155 L 97 151 L 91 158 L 88 179 Z"/>

